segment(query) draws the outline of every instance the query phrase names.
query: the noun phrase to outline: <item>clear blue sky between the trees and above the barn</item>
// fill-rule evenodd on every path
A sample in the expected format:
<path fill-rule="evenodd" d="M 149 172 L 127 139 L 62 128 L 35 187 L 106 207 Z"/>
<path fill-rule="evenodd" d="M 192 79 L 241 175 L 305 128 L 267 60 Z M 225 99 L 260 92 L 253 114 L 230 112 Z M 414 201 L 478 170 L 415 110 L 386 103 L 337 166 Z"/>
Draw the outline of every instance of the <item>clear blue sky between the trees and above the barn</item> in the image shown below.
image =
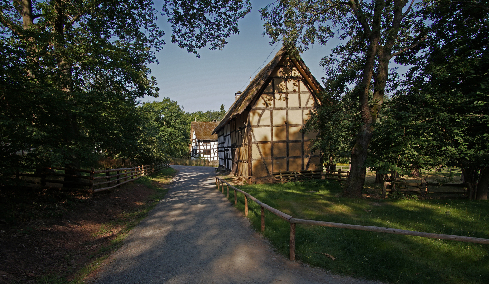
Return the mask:
<path fill-rule="evenodd" d="M 162 16 L 159 26 L 165 31 L 165 47 L 156 54 L 159 64 L 149 64 L 152 75 L 160 88 L 159 98 L 143 98 L 141 101 L 159 101 L 170 98 L 178 101 L 185 111 L 219 110 L 221 104 L 226 110 L 234 102 L 234 93 L 243 91 L 253 74 L 270 54 L 273 46 L 264 38 L 263 21 L 259 9 L 268 1 L 251 1 L 253 10 L 239 21 L 240 34 L 228 38 L 223 50 L 200 50 L 200 58 L 179 49 L 171 43 L 171 27 Z M 161 10 L 161 1 L 156 8 Z M 332 46 L 314 45 L 303 54 L 303 59 L 318 81 L 324 76 L 319 60 L 330 53 Z M 267 62 L 280 49 L 280 45 Z M 265 63 L 265 64 L 266 64 Z"/>

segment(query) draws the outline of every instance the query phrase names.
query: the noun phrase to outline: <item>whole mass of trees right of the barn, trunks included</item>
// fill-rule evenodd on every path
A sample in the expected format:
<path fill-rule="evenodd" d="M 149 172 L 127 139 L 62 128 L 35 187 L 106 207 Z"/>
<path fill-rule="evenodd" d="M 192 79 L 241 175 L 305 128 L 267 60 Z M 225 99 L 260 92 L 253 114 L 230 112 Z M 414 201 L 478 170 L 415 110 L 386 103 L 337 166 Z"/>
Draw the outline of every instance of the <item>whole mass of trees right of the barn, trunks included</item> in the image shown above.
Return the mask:
<path fill-rule="evenodd" d="M 317 109 L 306 128 L 318 132 L 314 147 L 323 159 L 351 159 L 344 196 L 361 194 L 367 166 L 411 174 L 440 165 L 464 169 L 474 195 L 484 180 L 478 172 L 487 169 L 487 7 L 280 0 L 261 10 L 265 34 L 283 37 L 297 53 L 341 42 L 321 61 L 322 95 L 333 103 Z M 400 77 L 391 60 L 412 68 Z"/>

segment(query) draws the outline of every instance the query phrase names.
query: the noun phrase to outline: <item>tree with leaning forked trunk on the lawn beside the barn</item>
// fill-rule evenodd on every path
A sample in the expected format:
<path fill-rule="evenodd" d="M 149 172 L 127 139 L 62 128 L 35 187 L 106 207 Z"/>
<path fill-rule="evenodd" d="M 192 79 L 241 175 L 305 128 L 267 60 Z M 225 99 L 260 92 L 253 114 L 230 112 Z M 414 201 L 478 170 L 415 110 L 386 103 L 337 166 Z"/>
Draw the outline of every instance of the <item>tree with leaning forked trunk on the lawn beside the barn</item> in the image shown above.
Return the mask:
<path fill-rule="evenodd" d="M 360 123 L 344 196 L 359 196 L 363 189 L 368 147 L 384 100 L 389 62 L 425 39 L 425 24 L 418 17 L 420 6 L 414 2 L 280 0 L 262 9 L 265 33 L 273 41 L 283 37 L 290 50 L 297 47 L 301 52 L 314 43 L 326 45 L 333 37 L 342 41 L 322 64 L 327 70 L 340 71 L 326 74 L 326 84 L 333 86 L 330 91 L 354 97 L 357 102 Z"/>

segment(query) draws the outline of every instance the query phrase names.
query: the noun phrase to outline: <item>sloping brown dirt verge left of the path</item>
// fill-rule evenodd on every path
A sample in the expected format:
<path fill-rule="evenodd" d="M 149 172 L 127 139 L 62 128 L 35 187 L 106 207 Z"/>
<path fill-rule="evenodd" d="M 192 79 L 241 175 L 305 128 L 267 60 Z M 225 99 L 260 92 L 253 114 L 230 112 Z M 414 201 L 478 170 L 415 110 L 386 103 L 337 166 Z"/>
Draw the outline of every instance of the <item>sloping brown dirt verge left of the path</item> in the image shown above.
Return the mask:
<path fill-rule="evenodd" d="M 166 184 L 131 183 L 93 197 L 1 188 L 0 283 L 62 283 L 117 246 Z"/>

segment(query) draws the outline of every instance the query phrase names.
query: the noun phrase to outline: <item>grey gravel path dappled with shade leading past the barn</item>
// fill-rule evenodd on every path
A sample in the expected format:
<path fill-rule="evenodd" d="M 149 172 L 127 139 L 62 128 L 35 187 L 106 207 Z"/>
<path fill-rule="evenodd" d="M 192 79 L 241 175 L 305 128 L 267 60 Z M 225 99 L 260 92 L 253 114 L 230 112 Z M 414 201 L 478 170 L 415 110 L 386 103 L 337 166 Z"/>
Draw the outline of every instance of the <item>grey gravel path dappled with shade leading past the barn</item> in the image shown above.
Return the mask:
<path fill-rule="evenodd" d="M 173 167 L 166 198 L 88 283 L 376 283 L 290 262 L 215 189 L 214 168 Z"/>

